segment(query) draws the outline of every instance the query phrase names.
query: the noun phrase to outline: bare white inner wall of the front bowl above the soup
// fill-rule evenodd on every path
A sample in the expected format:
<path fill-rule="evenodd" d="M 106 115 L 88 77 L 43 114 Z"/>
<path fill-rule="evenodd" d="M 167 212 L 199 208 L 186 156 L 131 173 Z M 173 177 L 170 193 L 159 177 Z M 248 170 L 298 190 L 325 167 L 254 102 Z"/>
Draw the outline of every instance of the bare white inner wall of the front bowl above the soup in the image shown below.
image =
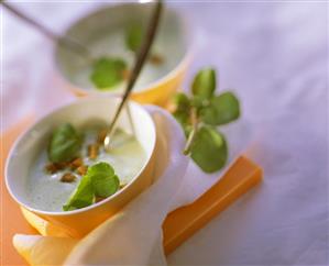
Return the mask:
<path fill-rule="evenodd" d="M 66 122 L 72 123 L 77 129 L 88 124 L 99 124 L 99 122 L 109 123 L 119 102 L 118 98 L 88 98 L 78 100 L 50 113 L 28 130 L 17 141 L 7 163 L 6 181 L 12 197 L 19 203 L 33 209 L 29 206 L 25 189 L 29 173 L 40 152 L 46 148 L 51 134 L 56 126 Z M 140 104 L 134 102 L 130 102 L 129 104 L 135 136 L 146 154 L 144 168 L 155 147 L 155 128 L 152 118 Z M 129 117 L 124 110 L 120 115 L 118 126 L 128 132 L 131 131 Z M 138 176 L 132 178 L 132 181 Z"/>

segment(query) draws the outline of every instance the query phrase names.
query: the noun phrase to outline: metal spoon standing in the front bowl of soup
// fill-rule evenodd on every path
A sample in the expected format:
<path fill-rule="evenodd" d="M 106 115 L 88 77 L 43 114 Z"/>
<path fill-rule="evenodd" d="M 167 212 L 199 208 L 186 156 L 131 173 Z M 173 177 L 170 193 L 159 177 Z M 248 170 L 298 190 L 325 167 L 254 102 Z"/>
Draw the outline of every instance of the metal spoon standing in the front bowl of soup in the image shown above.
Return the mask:
<path fill-rule="evenodd" d="M 114 132 L 119 115 L 122 111 L 122 108 L 127 103 L 127 100 L 128 100 L 128 98 L 129 98 L 129 96 L 130 96 L 130 93 L 133 89 L 133 86 L 134 86 L 141 70 L 144 66 L 144 63 L 145 63 L 146 57 L 149 55 L 150 48 L 153 44 L 154 36 L 155 36 L 157 25 L 158 25 L 158 21 L 160 21 L 160 15 L 161 15 L 161 12 L 162 12 L 162 7 L 163 7 L 162 1 L 161 0 L 156 1 L 152 18 L 151 18 L 151 20 L 149 22 L 149 25 L 147 25 L 147 31 L 146 31 L 146 34 L 144 36 L 144 41 L 142 43 L 142 46 L 141 46 L 140 51 L 136 54 L 134 67 L 133 67 L 132 74 L 129 78 L 129 81 L 128 81 L 127 88 L 124 90 L 122 100 L 119 104 L 119 108 L 117 109 L 117 111 L 114 113 L 114 118 L 113 118 L 113 120 L 112 120 L 112 122 L 109 126 L 109 131 L 108 131 L 107 136 L 103 141 L 103 145 L 105 145 L 106 151 L 110 149 L 111 136 Z M 129 109 L 128 109 L 128 111 L 129 111 Z"/>

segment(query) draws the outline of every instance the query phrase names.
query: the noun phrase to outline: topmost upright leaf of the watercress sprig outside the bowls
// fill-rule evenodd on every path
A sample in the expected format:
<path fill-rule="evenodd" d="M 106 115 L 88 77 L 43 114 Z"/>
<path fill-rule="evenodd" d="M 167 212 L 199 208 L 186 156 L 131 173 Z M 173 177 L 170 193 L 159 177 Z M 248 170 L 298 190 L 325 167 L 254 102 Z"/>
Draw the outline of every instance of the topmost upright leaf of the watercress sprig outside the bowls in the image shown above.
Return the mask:
<path fill-rule="evenodd" d="M 212 68 L 200 70 L 194 78 L 191 91 L 201 99 L 210 99 L 216 89 L 216 71 Z"/>

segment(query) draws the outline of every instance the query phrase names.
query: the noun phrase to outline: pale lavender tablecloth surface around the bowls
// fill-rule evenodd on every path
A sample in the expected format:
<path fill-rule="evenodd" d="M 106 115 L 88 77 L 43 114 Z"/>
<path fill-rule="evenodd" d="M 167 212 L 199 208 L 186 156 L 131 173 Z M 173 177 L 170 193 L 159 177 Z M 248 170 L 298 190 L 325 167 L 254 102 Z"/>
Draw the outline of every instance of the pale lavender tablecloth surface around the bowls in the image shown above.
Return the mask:
<path fill-rule="evenodd" d="M 15 3 L 61 32 L 103 3 Z M 190 20 L 204 66 L 233 89 L 243 115 L 224 126 L 231 154 L 245 152 L 264 181 L 174 252 L 171 265 L 328 265 L 328 3 L 173 1 Z M 72 101 L 52 44 L 1 11 L 1 129 Z M 2 59 L 1 58 L 1 59 Z M 198 188 L 194 188 L 196 191 Z"/>

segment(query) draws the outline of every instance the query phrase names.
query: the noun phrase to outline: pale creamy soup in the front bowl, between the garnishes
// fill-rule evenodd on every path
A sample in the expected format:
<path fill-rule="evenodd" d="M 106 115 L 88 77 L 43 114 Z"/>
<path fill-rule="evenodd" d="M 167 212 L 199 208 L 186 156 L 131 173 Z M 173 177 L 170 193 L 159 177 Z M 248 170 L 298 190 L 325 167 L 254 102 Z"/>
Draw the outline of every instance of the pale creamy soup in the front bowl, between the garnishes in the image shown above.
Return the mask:
<path fill-rule="evenodd" d="M 145 152 L 134 136 L 123 131 L 117 131 L 111 142 L 111 151 L 106 153 L 101 147 L 97 158 L 90 159 L 87 147 L 95 143 L 98 132 L 95 129 L 84 131 L 81 149 L 84 164 L 91 166 L 98 162 L 109 163 L 120 179 L 120 186 L 123 187 L 142 169 L 146 159 Z M 81 177 L 76 175 L 77 178 L 74 181 L 63 182 L 61 178 L 69 169 L 50 174 L 45 170 L 47 164 L 48 157 L 45 148 L 30 170 L 26 188 L 30 206 L 43 211 L 63 211 L 63 206 L 67 202 Z"/>

